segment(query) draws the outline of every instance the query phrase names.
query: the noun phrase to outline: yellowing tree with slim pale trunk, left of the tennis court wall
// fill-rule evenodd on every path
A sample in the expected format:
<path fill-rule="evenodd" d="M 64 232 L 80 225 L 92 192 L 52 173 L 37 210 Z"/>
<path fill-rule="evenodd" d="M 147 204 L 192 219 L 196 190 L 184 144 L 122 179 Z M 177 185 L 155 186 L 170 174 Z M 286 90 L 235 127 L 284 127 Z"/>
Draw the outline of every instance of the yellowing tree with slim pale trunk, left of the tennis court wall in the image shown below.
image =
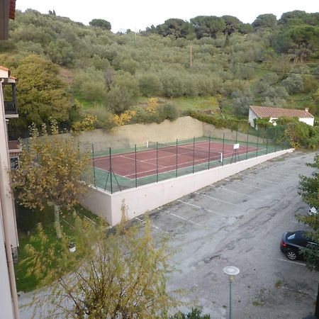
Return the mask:
<path fill-rule="evenodd" d="M 62 236 L 60 209 L 71 209 L 87 191 L 82 177 L 88 168 L 89 157 L 79 156 L 73 138 L 59 136 L 57 123 L 51 124 L 52 136 L 43 124 L 40 137 L 35 125 L 30 129 L 29 142 L 22 143 L 19 167 L 11 171 L 12 189 L 18 201 L 27 208 L 52 206 L 55 212 L 57 237 Z"/>

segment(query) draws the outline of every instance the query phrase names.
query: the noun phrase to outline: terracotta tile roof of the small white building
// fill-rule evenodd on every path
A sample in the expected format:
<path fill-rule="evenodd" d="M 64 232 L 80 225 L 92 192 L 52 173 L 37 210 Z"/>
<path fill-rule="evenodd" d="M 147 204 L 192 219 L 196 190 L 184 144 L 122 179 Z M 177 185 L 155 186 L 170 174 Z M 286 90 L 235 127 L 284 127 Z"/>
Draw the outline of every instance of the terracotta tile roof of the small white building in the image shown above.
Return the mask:
<path fill-rule="evenodd" d="M 250 106 L 252 111 L 259 118 L 280 118 L 285 116 L 287 118 L 313 118 L 314 116 L 305 110 L 296 110 L 295 108 L 275 108 L 269 106 Z"/>

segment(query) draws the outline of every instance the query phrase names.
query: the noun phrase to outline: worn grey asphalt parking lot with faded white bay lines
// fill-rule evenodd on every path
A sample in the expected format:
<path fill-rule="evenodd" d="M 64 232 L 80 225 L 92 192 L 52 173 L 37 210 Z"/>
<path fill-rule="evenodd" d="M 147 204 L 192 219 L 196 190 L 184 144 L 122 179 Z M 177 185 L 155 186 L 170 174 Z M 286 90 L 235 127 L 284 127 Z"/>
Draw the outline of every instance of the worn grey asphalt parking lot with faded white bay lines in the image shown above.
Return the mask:
<path fill-rule="evenodd" d="M 186 289 L 184 301 L 211 318 L 227 318 L 228 277 L 233 318 L 303 318 L 314 311 L 318 274 L 291 262 L 279 250 L 285 230 L 306 229 L 296 213 L 307 206 L 298 195 L 299 174 L 310 175 L 315 153 L 293 152 L 224 179 L 152 211 L 153 235 L 169 237 L 180 272 L 169 289 Z M 136 218 L 143 223 L 143 218 Z"/>

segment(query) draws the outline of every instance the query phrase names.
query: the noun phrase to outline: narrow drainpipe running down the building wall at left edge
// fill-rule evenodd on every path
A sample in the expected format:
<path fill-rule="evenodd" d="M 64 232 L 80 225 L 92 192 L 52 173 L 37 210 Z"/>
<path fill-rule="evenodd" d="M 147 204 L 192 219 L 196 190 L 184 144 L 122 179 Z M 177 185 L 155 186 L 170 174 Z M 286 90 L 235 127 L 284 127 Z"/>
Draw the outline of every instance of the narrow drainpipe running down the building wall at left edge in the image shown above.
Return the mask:
<path fill-rule="evenodd" d="M 2 82 L 4 82 L 4 79 L 0 80 L 0 98 L 1 98 L 1 103 L 0 103 L 0 113 L 2 113 L 2 116 L 4 116 L 4 101 L 2 99 Z M 2 119 L 1 119 L 2 120 Z M 4 122 L 4 129 L 6 129 L 6 123 Z M 8 174 L 8 172 L 4 172 L 4 174 Z M 0 183 L 0 194 L 3 195 L 5 194 L 5 189 L 4 185 Z M 2 196 L 1 196 L 2 197 Z M 2 209 L 1 209 L 2 211 Z M 5 247 L 6 247 L 6 259 L 8 262 L 8 269 L 9 269 L 9 281 L 10 281 L 10 288 L 11 288 L 11 298 L 12 298 L 12 306 L 13 306 L 13 313 L 14 313 L 14 318 L 19 319 L 19 309 L 18 309 L 18 295 L 16 293 L 16 277 L 14 276 L 14 268 L 13 268 L 13 258 L 12 258 L 12 251 L 11 251 L 11 245 L 10 245 L 10 237 L 9 237 L 9 225 L 8 221 L 6 220 L 6 214 L 2 212 L 2 220 L 4 223 L 4 240 L 5 240 Z"/>

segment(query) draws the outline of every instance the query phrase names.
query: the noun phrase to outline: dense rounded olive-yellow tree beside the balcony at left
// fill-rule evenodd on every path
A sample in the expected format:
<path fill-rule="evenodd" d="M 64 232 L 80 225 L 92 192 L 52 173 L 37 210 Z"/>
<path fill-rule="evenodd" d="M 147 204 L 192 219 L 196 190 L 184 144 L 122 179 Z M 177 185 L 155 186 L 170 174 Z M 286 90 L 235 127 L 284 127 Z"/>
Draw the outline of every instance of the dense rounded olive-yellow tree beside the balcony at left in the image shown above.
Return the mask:
<path fill-rule="evenodd" d="M 11 124 L 18 130 L 26 130 L 35 123 L 58 123 L 69 120 L 71 99 L 67 93 L 67 84 L 59 77 L 59 69 L 52 62 L 38 55 L 30 55 L 21 60 L 15 75 L 19 118 Z"/>

